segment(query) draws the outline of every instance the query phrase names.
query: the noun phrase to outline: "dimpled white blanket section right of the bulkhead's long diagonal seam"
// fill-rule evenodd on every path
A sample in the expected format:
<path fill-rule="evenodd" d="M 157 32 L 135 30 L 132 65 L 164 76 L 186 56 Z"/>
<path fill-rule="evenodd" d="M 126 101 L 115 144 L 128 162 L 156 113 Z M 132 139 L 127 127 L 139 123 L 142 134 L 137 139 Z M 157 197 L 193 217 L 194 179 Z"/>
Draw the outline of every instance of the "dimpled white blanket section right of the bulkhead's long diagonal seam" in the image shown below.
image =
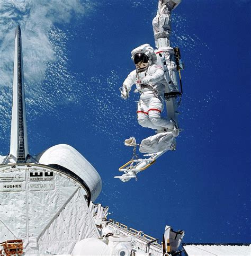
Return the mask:
<path fill-rule="evenodd" d="M 78 189 L 52 219 L 46 231 L 38 237 L 39 253 L 48 251 L 52 254 L 70 254 L 77 241 L 99 236 L 84 201 L 84 195 L 81 189 Z M 28 249 L 26 252 L 33 251 Z"/>

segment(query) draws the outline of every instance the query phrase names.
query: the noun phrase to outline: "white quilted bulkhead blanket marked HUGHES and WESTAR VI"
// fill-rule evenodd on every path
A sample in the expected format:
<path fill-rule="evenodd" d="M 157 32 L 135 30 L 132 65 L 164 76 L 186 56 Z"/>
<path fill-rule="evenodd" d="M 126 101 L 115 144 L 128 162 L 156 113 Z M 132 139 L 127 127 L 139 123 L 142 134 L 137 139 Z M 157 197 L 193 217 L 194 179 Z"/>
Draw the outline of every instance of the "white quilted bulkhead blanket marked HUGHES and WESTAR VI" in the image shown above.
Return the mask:
<path fill-rule="evenodd" d="M 100 236 L 85 195 L 49 168 L 0 168 L 0 241 L 22 239 L 28 255 L 70 254 L 77 241 Z"/>

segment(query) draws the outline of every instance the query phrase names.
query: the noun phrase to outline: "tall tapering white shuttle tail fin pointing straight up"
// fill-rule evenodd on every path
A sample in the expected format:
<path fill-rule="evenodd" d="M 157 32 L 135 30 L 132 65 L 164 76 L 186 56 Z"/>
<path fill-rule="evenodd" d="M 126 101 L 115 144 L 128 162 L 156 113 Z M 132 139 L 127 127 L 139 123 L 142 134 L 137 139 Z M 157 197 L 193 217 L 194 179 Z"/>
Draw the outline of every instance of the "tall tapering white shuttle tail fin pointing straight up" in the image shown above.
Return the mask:
<path fill-rule="evenodd" d="M 13 103 L 9 158 L 12 159 L 11 162 L 26 163 L 28 156 L 29 151 L 24 98 L 22 37 L 20 25 L 17 25 L 15 31 Z"/>

